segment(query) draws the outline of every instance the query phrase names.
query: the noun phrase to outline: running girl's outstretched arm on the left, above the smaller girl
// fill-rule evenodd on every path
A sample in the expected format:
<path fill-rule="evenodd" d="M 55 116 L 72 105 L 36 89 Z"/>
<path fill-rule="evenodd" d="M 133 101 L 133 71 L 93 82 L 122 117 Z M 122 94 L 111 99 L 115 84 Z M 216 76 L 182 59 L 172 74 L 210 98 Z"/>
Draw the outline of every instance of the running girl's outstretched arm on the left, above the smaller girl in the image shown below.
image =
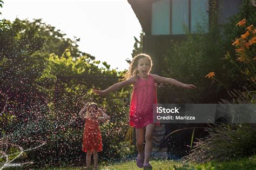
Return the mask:
<path fill-rule="evenodd" d="M 95 92 L 95 93 L 103 95 L 103 94 L 107 94 L 107 93 L 110 93 L 112 91 L 115 91 L 117 89 L 120 89 L 120 88 L 122 88 L 124 86 L 129 86 L 129 85 L 131 85 L 133 83 L 135 83 L 134 78 L 130 78 L 128 80 L 116 83 L 116 84 L 112 85 L 111 87 L 109 87 L 106 90 L 95 90 L 95 89 L 93 89 L 92 91 Z"/>

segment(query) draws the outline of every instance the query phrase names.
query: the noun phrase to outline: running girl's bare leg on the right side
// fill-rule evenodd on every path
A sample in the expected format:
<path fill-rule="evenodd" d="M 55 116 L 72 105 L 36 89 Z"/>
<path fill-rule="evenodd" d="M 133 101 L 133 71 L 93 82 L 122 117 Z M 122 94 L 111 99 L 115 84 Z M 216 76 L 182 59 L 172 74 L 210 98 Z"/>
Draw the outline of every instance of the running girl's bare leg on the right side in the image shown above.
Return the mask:
<path fill-rule="evenodd" d="M 149 163 L 152 146 L 153 146 L 153 132 L 154 132 L 154 124 L 149 124 L 146 126 L 146 144 L 145 144 L 145 159 L 144 164 Z"/>

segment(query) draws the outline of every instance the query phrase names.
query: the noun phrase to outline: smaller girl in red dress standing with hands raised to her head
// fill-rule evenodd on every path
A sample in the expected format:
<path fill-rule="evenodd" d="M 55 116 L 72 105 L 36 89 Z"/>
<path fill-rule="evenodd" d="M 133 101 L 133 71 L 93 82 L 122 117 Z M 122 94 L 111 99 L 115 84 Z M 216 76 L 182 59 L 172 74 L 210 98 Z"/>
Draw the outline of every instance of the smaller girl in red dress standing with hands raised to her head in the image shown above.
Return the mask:
<path fill-rule="evenodd" d="M 99 121 L 109 119 L 96 103 L 86 103 L 79 112 L 80 117 L 85 120 L 83 148 L 86 152 L 86 167 L 91 165 L 91 155 L 93 153 L 94 167 L 98 167 L 98 152 L 102 151 L 102 136 L 99 131 Z M 102 116 L 102 117 L 100 117 Z"/>

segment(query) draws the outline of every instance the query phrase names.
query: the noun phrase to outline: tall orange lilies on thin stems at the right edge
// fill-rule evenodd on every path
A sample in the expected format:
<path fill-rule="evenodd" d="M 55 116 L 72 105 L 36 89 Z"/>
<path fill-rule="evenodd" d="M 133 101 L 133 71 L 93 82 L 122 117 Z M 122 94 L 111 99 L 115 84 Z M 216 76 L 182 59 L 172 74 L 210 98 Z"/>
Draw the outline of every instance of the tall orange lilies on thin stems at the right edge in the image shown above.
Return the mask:
<path fill-rule="evenodd" d="M 237 94 L 232 93 L 221 81 L 219 81 L 217 78 L 215 78 L 215 73 L 210 72 L 205 77 L 211 78 L 214 82 L 218 81 L 221 85 L 223 85 L 228 92 L 231 92 L 231 95 L 233 97 L 233 102 L 240 103 L 241 95 L 246 97 L 250 101 L 250 103 L 255 103 L 255 93 L 256 91 L 250 91 L 247 90 L 250 88 L 255 89 L 256 86 L 256 29 L 254 25 L 246 26 L 246 19 L 242 19 L 240 22 L 237 23 L 236 26 L 243 26 L 245 27 L 245 33 L 240 36 L 240 38 L 235 38 L 233 42 L 233 46 L 235 47 L 235 54 L 237 55 L 237 58 L 234 59 L 231 57 L 230 53 L 227 52 L 225 55 L 225 58 L 230 60 L 230 62 L 237 67 L 237 69 L 244 74 L 246 79 L 248 80 L 248 86 L 243 86 L 243 89 L 246 89 L 246 92 L 237 92 L 234 90 Z M 242 64 L 238 64 L 237 62 L 240 62 Z M 237 99 L 234 99 L 237 98 Z M 245 99 L 245 98 L 244 98 Z M 246 101 L 246 102 L 247 102 Z"/>

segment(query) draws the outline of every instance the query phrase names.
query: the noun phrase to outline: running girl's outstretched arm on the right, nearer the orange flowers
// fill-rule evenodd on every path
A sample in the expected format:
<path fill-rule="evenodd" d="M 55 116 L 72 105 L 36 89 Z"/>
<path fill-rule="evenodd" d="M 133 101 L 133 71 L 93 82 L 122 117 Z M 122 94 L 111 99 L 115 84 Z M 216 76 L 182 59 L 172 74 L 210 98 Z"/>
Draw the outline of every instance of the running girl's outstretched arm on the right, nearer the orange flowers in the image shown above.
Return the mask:
<path fill-rule="evenodd" d="M 152 75 L 152 76 L 153 76 L 154 80 L 156 81 L 156 83 L 167 83 L 167 84 L 182 87 L 182 88 L 185 88 L 185 89 L 196 89 L 197 88 L 193 84 L 184 84 L 184 83 L 181 83 L 181 82 L 179 82 L 179 81 L 177 81 L 176 79 L 173 79 L 173 78 L 160 77 L 160 76 L 157 76 L 155 74 Z"/>

